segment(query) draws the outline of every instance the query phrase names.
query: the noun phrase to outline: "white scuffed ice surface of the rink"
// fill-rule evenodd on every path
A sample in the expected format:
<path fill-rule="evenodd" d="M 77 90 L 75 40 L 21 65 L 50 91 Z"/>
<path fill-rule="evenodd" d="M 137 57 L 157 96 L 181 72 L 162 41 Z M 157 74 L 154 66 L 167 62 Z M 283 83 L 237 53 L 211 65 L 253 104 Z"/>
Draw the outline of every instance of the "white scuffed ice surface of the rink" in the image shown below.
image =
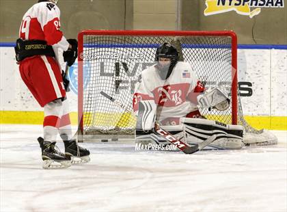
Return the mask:
<path fill-rule="evenodd" d="M 193 155 L 84 143 L 90 163 L 43 170 L 42 127 L 0 127 L 0 211 L 287 211 L 287 131 L 277 146 Z"/>

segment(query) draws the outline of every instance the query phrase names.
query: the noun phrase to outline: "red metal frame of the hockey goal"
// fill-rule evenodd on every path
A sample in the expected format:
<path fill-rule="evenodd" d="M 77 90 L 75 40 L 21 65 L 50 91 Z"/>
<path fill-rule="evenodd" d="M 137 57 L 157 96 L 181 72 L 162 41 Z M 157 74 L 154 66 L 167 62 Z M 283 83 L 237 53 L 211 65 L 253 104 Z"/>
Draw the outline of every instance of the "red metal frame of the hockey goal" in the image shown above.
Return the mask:
<path fill-rule="evenodd" d="M 89 41 L 85 40 L 85 37 L 92 38 L 92 45 L 89 46 Z M 191 38 L 191 37 L 206 37 L 206 38 L 230 38 L 230 51 L 231 51 L 231 68 L 230 75 L 231 82 L 231 98 L 232 98 L 232 116 L 231 123 L 237 124 L 238 116 L 238 99 L 237 99 L 237 38 L 233 31 L 150 31 L 150 30 L 85 30 L 81 31 L 78 35 L 79 42 L 79 56 L 78 56 L 78 122 L 81 132 L 84 131 L 84 63 L 85 63 L 85 49 L 98 48 L 97 45 L 105 44 L 105 38 L 117 37 L 137 37 L 137 38 Z M 100 38 L 97 40 L 97 38 Z M 160 43 L 159 43 L 160 44 Z M 94 46 L 93 46 L 94 45 Z M 204 44 L 202 44 L 204 45 Z M 87 47 L 89 46 L 89 47 Z M 93 47 L 92 47 L 93 46 Z M 217 47 L 215 47 L 217 48 Z M 96 51 L 96 50 L 95 50 Z M 210 56 L 212 57 L 212 56 Z"/>

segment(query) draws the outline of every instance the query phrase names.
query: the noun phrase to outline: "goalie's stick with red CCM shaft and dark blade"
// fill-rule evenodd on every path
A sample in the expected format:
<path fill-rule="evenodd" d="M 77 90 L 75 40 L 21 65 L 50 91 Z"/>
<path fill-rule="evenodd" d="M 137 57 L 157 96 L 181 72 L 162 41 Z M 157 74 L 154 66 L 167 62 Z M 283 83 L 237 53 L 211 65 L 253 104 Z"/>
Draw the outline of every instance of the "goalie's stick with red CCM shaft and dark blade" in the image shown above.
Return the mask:
<path fill-rule="evenodd" d="M 102 96 L 105 96 L 106 98 L 108 98 L 111 102 L 113 102 L 115 105 L 118 105 L 119 107 L 121 107 L 122 109 L 124 109 L 125 111 L 130 112 L 131 114 L 133 114 L 133 111 L 129 110 L 126 108 L 125 105 L 123 105 L 120 101 L 116 101 L 115 98 L 109 96 L 109 94 L 101 91 L 100 94 L 102 94 Z M 161 137 L 164 137 L 165 140 L 167 140 L 168 142 L 170 142 L 171 144 L 176 145 L 176 147 L 182 151 L 185 154 L 192 154 L 192 153 L 196 153 L 198 150 L 202 150 L 202 148 L 208 146 L 208 144 L 211 144 L 212 142 L 215 141 L 216 139 L 216 135 L 212 135 L 210 137 L 208 137 L 207 140 L 205 140 L 204 142 L 200 143 L 200 144 L 195 144 L 193 146 L 189 146 L 188 144 L 185 144 L 184 142 L 178 140 L 176 137 L 174 137 L 174 135 L 172 135 L 171 133 L 165 131 L 164 129 L 161 129 L 161 127 L 159 126 L 158 123 L 154 123 L 154 129 L 153 129 L 154 133 L 156 133 L 157 135 L 161 135 Z"/>

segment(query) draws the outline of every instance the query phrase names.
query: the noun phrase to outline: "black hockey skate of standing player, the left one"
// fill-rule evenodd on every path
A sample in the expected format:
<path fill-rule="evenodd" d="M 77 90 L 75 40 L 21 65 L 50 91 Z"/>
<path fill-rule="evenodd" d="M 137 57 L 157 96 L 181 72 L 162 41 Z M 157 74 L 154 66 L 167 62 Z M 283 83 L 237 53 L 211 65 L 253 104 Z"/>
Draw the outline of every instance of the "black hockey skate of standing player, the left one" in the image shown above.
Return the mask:
<path fill-rule="evenodd" d="M 71 166 L 70 155 L 65 155 L 56 150 L 56 142 L 46 142 L 42 137 L 38 137 L 38 142 L 42 149 L 44 169 L 68 168 Z"/>

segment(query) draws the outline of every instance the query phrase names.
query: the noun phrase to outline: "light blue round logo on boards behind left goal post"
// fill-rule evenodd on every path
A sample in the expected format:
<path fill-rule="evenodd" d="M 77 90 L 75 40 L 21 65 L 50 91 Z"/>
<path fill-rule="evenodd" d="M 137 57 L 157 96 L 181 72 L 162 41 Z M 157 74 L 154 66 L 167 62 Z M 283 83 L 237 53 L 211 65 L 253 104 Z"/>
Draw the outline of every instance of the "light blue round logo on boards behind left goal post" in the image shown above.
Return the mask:
<path fill-rule="evenodd" d="M 91 76 L 91 66 L 90 63 L 85 61 L 83 65 L 83 88 L 86 88 L 87 84 L 90 81 Z M 68 79 L 70 80 L 70 89 L 75 94 L 78 94 L 78 62 L 69 68 Z"/>

